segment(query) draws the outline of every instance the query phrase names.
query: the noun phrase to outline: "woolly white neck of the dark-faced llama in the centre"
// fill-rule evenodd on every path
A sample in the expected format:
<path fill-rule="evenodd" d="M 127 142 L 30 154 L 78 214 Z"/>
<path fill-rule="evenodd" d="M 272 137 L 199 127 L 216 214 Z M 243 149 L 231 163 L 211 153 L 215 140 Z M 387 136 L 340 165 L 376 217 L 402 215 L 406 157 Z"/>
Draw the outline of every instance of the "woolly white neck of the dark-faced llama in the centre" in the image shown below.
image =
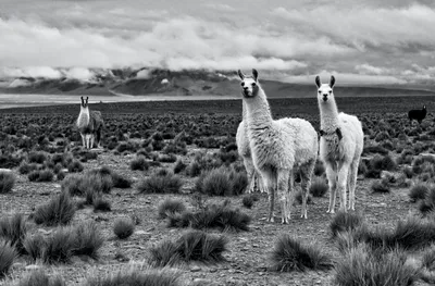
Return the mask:
<path fill-rule="evenodd" d="M 258 86 L 257 96 L 244 98 L 246 103 L 246 121 L 251 130 L 264 130 L 272 126 L 271 109 L 264 90 Z"/>

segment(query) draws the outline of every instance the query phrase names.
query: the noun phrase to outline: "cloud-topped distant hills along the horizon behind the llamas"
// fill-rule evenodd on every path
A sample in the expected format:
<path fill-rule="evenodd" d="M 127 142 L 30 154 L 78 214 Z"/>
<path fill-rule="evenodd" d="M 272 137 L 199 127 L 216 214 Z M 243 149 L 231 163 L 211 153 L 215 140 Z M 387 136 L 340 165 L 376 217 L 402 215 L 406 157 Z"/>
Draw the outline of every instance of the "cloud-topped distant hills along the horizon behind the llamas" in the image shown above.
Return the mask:
<path fill-rule="evenodd" d="M 270 98 L 306 98 L 315 95 L 315 86 L 289 84 L 262 79 L 261 84 Z M 239 79 L 231 72 L 169 71 L 169 70 L 92 70 L 90 78 L 76 79 L 17 77 L 0 80 L 0 94 L 41 95 L 108 95 L 129 96 L 164 95 L 210 96 L 212 98 L 239 98 Z M 396 97 L 435 96 L 435 91 L 398 87 L 350 87 L 337 86 L 337 97 Z"/>

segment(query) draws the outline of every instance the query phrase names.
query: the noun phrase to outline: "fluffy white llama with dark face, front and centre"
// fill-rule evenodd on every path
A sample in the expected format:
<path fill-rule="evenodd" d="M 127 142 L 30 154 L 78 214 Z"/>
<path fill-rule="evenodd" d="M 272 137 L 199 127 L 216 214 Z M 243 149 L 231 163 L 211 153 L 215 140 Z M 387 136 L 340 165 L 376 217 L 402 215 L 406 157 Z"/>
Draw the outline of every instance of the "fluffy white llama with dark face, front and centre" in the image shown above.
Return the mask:
<path fill-rule="evenodd" d="M 241 95 L 246 104 L 248 139 L 254 167 L 263 178 L 269 194 L 269 222 L 274 222 L 277 192 L 282 223 L 289 222 L 293 208 L 294 169 L 299 167 L 302 184 L 301 217 L 307 219 L 307 198 L 318 157 L 318 134 L 301 119 L 273 120 L 258 72 L 245 76 L 240 71 Z"/>

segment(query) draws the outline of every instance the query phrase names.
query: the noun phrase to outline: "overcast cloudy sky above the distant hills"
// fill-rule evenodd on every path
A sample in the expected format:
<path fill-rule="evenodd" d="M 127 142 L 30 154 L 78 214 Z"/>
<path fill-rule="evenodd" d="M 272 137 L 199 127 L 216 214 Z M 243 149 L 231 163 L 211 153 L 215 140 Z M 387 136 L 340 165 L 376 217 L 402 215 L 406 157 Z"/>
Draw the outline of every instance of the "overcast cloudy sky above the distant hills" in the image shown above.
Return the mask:
<path fill-rule="evenodd" d="M 288 82 L 435 84 L 432 0 L 0 0 L 0 35 L 3 75 L 256 67 Z"/>

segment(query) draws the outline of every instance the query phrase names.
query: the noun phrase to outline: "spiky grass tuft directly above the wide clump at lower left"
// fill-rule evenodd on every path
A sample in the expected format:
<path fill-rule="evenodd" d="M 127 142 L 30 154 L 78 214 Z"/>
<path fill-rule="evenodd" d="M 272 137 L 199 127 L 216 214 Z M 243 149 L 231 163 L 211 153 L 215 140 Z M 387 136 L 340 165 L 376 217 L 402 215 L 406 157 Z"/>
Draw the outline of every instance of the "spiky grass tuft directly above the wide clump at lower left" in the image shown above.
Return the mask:
<path fill-rule="evenodd" d="M 75 204 L 70 194 L 61 191 L 61 194 L 52 198 L 46 204 L 37 207 L 34 213 L 36 224 L 45 224 L 47 226 L 65 225 L 73 220 L 75 214 Z"/>

